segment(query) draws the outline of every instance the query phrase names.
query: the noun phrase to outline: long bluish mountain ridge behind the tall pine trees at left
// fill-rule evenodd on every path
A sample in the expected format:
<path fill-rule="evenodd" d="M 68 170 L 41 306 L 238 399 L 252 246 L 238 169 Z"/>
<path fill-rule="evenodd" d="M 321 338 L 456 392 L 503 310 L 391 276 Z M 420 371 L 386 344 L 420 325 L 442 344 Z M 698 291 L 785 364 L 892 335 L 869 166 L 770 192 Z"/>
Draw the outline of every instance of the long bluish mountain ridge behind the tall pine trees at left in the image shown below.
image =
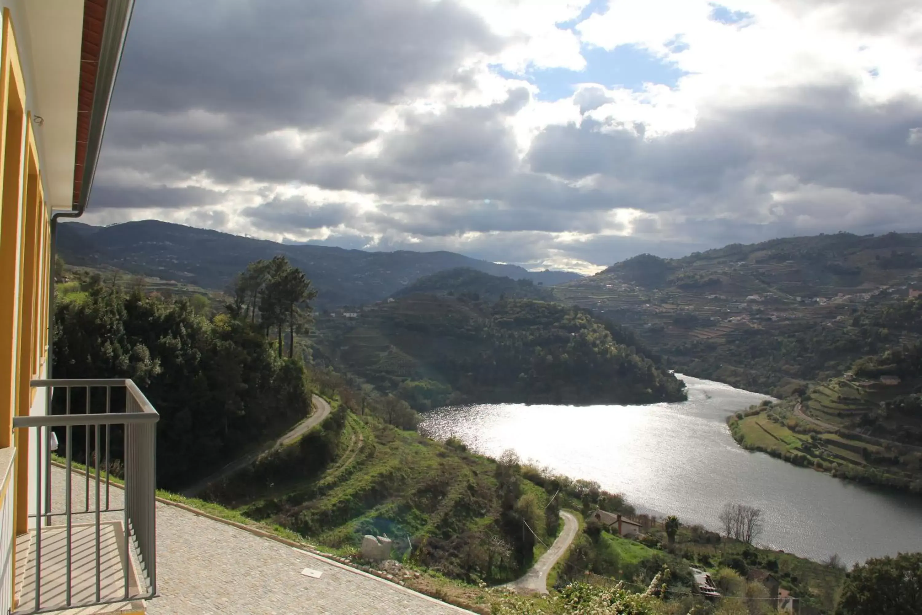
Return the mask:
<path fill-rule="evenodd" d="M 58 252 L 72 265 L 112 266 L 131 273 L 224 290 L 259 258 L 284 254 L 319 291 L 320 307 L 377 302 L 411 282 L 445 269 L 467 267 L 544 286 L 580 278 L 565 271 L 528 271 L 452 252 L 364 252 L 320 245 L 289 245 L 157 220 L 94 227 L 61 224 Z"/>

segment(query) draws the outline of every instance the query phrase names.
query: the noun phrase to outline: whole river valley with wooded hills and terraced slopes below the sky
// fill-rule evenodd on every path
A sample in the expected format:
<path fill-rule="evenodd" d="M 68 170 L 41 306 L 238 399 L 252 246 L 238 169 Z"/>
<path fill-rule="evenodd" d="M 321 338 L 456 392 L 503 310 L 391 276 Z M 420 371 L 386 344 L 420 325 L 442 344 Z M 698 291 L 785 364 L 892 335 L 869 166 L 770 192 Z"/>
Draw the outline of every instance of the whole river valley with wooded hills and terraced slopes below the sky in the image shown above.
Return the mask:
<path fill-rule="evenodd" d="M 742 246 L 742 256 L 692 255 L 685 265 L 642 255 L 552 285 L 509 269 L 425 273 L 421 263 L 438 260 L 431 254 L 407 257 L 419 256 L 397 281 L 381 268 L 394 254 L 360 254 L 336 274 L 328 261 L 301 265 L 298 254 L 231 273 L 204 258 L 195 265 L 200 246 L 183 243 L 185 231 L 173 226 L 166 227 L 175 231 L 171 240 L 155 228 L 150 245 L 134 238 L 127 248 L 90 253 L 92 265 L 67 263 L 59 318 L 75 325 L 55 344 L 68 373 L 110 361 L 110 369 L 148 380 L 170 427 L 159 434 L 171 453 L 160 473 L 171 488 L 206 501 L 195 505 L 309 539 L 350 561 L 361 561 L 361 536 L 394 537 L 393 556 L 413 571 L 408 583 L 472 608 L 490 601 L 477 584 L 505 584 L 538 562 L 561 531 L 561 510 L 638 518 L 647 538 L 596 533 L 584 520 L 561 562 L 544 571 L 548 585 L 560 589 L 586 574 L 644 585 L 667 566 L 672 586 L 691 591 L 692 569 L 771 571 L 821 612 L 832 609 L 844 573 L 838 560 L 816 561 L 838 551 L 860 562 L 901 548 L 889 530 L 866 532 L 860 544 L 839 540 L 830 532 L 850 517 L 836 511 L 876 514 L 889 528 L 916 523 L 916 500 L 833 479 L 918 491 L 922 300 L 909 297 L 918 269 L 902 265 L 908 256 L 896 259 L 899 266 L 871 263 L 870 248 L 861 247 L 868 238 L 829 241 L 840 251 L 857 242 L 849 249 L 868 257 L 864 266 L 887 272 L 887 284 L 841 286 L 786 261 L 779 268 L 780 257 L 764 246 Z M 887 241 L 904 246 L 891 254 L 905 254 L 916 240 Z M 287 253 L 266 243 L 264 258 Z M 112 258 L 122 253 L 134 256 Z M 140 254 L 153 254 L 157 265 L 132 260 Z M 362 269 L 369 258 L 379 259 L 371 274 Z M 320 272 L 320 294 L 281 307 L 284 280 L 295 271 Z M 325 277 L 334 275 L 339 281 Z M 393 290 L 362 295 L 365 275 Z M 814 283 L 813 294 L 797 287 Z M 338 299 L 322 301 L 327 292 Z M 101 328 L 112 328 L 114 352 L 89 348 L 77 335 Z M 250 384 L 235 386 L 235 376 L 200 363 L 200 351 L 228 368 L 253 365 Z M 750 388 L 669 371 L 685 368 Z M 899 382 L 888 384 L 892 377 Z M 183 409 L 175 378 L 199 392 L 195 412 Z M 328 414 L 315 414 L 306 432 L 291 431 L 305 406 Z M 445 417 L 454 417 L 450 429 L 439 427 Z M 789 463 L 741 450 L 731 433 L 743 447 Z M 252 447 L 254 434 L 262 448 Z M 195 479 L 207 487 L 199 491 Z M 758 546 L 715 533 L 720 506 L 734 500 L 765 512 Z M 665 534 L 667 514 L 681 520 L 676 545 Z M 836 521 L 822 526 L 817 516 Z M 739 587 L 726 591 L 743 595 Z"/>

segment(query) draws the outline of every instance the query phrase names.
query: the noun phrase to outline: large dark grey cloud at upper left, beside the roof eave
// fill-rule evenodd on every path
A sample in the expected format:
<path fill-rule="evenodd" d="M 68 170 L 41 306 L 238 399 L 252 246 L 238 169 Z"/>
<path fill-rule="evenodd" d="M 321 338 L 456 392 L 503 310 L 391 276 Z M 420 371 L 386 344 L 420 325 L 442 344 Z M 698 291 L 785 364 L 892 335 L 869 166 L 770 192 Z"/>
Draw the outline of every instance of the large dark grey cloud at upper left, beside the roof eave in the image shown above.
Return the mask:
<path fill-rule="evenodd" d="M 455 2 L 427 0 L 160 0 L 138 3 L 130 36 L 117 110 L 205 109 L 260 131 L 394 101 L 500 45 Z"/>

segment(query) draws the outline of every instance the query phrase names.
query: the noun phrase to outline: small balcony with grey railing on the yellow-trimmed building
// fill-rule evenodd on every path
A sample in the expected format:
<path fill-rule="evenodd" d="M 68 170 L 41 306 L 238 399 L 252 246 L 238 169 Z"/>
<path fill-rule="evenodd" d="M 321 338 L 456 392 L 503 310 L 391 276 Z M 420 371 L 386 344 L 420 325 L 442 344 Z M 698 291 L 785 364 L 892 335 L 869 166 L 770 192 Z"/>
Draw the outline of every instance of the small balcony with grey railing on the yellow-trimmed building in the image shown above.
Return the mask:
<path fill-rule="evenodd" d="M 131 380 L 31 385 L 48 395 L 44 416 L 13 420 L 28 431 L 34 468 L 30 529 L 16 541 L 14 613 L 143 612 L 157 595 L 160 416 Z"/>

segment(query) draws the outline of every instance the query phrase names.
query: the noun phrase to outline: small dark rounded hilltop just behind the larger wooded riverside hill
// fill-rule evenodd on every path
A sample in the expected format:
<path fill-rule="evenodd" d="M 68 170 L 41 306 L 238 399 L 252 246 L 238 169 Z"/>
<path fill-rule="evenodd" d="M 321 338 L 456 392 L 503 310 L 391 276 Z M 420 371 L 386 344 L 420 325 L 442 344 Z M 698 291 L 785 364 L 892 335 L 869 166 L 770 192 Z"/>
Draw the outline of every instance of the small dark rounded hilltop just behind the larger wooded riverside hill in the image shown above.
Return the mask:
<path fill-rule="evenodd" d="M 394 297 L 407 297 L 413 293 L 467 295 L 474 301 L 496 302 L 500 299 L 536 299 L 553 301 L 554 295 L 530 279 L 500 278 L 488 273 L 457 267 L 420 278 L 394 293 Z"/>

